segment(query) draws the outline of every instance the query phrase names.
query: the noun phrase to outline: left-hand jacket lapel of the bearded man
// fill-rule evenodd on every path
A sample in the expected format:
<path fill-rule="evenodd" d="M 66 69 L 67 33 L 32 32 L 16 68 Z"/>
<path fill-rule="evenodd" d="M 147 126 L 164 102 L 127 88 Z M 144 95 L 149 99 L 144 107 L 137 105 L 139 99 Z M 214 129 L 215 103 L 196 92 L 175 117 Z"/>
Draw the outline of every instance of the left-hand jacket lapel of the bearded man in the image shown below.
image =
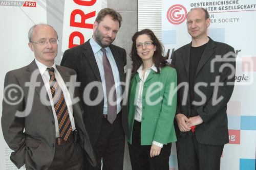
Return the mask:
<path fill-rule="evenodd" d="M 99 67 L 97 65 L 96 59 L 93 54 L 93 50 L 90 44 L 90 39 L 86 41 L 83 45 L 84 51 L 83 55 L 86 57 L 87 61 L 89 62 L 90 66 L 92 67 L 92 70 L 94 72 L 94 75 L 98 79 L 98 81 L 101 82 L 100 73 L 99 73 Z"/>

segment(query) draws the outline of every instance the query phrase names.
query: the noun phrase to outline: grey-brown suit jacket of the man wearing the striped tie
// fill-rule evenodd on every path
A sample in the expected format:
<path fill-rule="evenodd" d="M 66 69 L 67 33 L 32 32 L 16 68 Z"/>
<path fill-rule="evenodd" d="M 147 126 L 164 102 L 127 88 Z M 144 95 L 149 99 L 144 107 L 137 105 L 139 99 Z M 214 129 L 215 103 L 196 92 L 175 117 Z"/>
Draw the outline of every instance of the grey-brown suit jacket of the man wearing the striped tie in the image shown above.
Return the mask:
<path fill-rule="evenodd" d="M 70 68 L 57 65 L 56 67 L 65 82 L 70 81 L 71 75 L 75 75 L 75 71 Z M 31 80 L 33 73 L 36 74 L 36 81 L 40 83 L 39 86 Z M 26 82 L 30 83 L 31 91 L 25 85 Z M 40 95 L 40 91 L 46 89 L 35 61 L 23 68 L 7 72 L 5 88 L 8 85 L 17 85 L 24 92 L 24 95 L 20 91 L 16 93 L 18 99 L 22 99 L 16 105 L 10 105 L 6 100 L 3 100 L 1 119 L 3 135 L 9 147 L 14 150 L 10 159 L 18 168 L 26 164 L 28 169 L 48 169 L 55 152 L 55 123 L 51 106 L 42 102 L 44 96 Z M 16 111 L 24 111 L 29 104 L 32 104 L 30 112 L 26 112 L 23 117 L 15 116 Z M 74 104 L 73 117 L 76 129 L 80 133 L 81 147 L 89 161 L 96 165 L 94 151 L 82 122 L 82 114 L 83 111 L 79 104 Z"/>

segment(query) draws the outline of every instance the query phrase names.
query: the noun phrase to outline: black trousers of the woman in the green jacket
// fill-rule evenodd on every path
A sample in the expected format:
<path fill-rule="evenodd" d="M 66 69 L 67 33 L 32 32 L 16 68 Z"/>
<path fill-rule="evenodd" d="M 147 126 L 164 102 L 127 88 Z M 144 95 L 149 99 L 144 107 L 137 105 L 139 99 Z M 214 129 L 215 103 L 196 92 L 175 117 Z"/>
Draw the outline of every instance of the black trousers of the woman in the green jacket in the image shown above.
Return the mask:
<path fill-rule="evenodd" d="M 164 144 L 158 156 L 150 157 L 151 145 L 141 145 L 141 123 L 134 120 L 132 144 L 128 143 L 133 170 L 168 170 L 172 143 Z"/>

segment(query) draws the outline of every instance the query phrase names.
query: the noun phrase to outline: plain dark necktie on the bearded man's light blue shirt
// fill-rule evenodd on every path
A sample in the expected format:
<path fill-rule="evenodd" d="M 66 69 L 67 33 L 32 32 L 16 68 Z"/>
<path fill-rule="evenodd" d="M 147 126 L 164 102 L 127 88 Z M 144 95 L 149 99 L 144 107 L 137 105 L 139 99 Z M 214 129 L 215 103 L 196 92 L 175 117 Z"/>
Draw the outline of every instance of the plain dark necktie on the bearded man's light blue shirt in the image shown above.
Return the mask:
<path fill-rule="evenodd" d="M 111 124 L 113 124 L 114 120 L 116 119 L 116 88 L 114 88 L 114 92 L 110 95 L 110 90 L 112 87 L 115 87 L 115 80 L 112 72 L 112 68 L 109 62 L 109 59 L 106 57 L 105 48 L 101 48 L 103 52 L 103 68 L 104 68 L 104 77 L 105 77 L 105 84 L 106 84 L 106 96 L 108 100 L 108 120 Z M 114 105 L 111 105 L 109 102 L 111 99 L 114 102 Z"/>

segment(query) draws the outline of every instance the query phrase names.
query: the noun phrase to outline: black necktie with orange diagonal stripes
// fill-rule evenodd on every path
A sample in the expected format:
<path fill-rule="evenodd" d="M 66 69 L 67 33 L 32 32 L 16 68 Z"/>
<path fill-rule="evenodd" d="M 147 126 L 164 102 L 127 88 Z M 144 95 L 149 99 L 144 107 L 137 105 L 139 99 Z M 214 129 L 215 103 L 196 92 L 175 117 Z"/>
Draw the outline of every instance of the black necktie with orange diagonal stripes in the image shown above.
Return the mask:
<path fill-rule="evenodd" d="M 56 78 L 54 75 L 54 68 L 50 67 L 47 69 L 50 75 L 50 88 L 52 92 L 54 109 L 55 109 L 57 119 L 58 119 L 58 124 L 59 124 L 59 136 L 66 141 L 70 135 L 70 132 L 72 131 L 68 107 L 65 102 L 63 92 L 59 87 L 58 82 L 56 81 Z"/>

